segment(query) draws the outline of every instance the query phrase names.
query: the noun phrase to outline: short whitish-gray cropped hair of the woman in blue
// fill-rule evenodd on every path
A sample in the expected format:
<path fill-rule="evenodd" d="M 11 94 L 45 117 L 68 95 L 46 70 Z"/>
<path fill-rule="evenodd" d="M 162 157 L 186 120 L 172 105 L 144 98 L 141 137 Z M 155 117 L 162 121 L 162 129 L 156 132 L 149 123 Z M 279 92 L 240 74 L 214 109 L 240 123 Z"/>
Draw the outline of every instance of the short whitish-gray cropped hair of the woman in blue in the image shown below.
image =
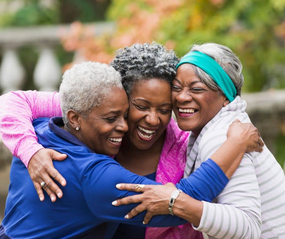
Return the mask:
<path fill-rule="evenodd" d="M 123 89 L 122 79 L 113 67 L 99 62 L 82 62 L 64 72 L 59 87 L 62 119 L 69 128 L 67 111 L 80 113 L 84 120 L 100 106 L 114 87 Z"/>

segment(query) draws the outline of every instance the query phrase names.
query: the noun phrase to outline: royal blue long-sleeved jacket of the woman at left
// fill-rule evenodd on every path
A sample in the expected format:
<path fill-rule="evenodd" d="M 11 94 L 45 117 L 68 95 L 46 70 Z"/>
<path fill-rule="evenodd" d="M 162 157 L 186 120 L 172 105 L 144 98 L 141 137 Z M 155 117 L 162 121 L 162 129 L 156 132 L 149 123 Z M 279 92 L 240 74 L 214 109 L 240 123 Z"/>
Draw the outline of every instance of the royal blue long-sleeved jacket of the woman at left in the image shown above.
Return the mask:
<path fill-rule="evenodd" d="M 62 125 L 61 117 L 33 121 L 40 144 L 68 155 L 64 161 L 53 161 L 67 181 L 67 185 L 61 187 L 63 197 L 52 203 L 45 193 L 46 199 L 41 202 L 25 165 L 13 157 L 0 238 L 75 238 L 105 222 L 108 223 L 105 238 L 111 238 L 121 222 L 143 226 L 145 212 L 124 219 L 137 204 L 112 206 L 117 198 L 137 194 L 118 190 L 115 185 L 158 183 L 131 173 L 111 157 L 94 153 L 58 125 Z M 198 200 L 212 201 L 227 182 L 223 171 L 209 159 L 176 187 Z M 169 227 L 184 223 L 185 220 L 176 216 L 158 215 L 147 226 Z M 94 238 L 103 238 L 99 234 Z"/>

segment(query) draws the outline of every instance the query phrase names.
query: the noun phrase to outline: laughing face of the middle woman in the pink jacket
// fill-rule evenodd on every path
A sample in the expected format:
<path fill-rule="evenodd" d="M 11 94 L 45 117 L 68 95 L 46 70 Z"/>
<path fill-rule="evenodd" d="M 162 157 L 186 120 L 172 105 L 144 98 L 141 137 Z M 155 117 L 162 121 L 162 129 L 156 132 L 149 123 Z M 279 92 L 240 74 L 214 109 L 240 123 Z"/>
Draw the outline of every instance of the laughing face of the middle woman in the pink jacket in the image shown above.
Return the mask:
<path fill-rule="evenodd" d="M 136 83 L 129 98 L 128 140 L 138 149 L 149 149 L 171 119 L 171 86 L 161 79 Z"/>

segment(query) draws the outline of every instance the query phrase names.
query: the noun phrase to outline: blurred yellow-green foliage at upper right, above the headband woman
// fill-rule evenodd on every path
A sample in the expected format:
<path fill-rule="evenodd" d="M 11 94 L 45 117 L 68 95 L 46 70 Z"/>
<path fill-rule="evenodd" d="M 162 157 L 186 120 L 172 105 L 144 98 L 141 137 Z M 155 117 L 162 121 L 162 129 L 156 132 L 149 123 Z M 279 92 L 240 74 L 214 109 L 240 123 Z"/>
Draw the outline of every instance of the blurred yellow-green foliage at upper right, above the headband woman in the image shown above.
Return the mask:
<path fill-rule="evenodd" d="M 108 18 L 132 16 L 134 4 L 151 14 L 158 2 L 114 0 Z M 161 4 L 167 2 L 177 5 L 161 19 L 154 40 L 173 41 L 179 56 L 197 42 L 226 45 L 243 63 L 243 91 L 285 88 L 285 0 L 166 0 Z"/>

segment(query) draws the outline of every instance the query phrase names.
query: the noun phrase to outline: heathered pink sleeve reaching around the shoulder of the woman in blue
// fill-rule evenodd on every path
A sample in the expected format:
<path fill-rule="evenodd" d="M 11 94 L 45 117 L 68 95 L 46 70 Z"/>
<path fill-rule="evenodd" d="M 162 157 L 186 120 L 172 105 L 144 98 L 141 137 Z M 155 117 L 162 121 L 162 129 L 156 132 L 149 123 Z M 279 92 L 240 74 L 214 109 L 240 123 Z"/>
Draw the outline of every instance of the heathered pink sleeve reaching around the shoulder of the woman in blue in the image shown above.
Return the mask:
<path fill-rule="evenodd" d="M 37 142 L 32 120 L 62 116 L 59 93 L 15 91 L 0 96 L 0 132 L 5 146 L 28 167 L 43 148 Z"/>

